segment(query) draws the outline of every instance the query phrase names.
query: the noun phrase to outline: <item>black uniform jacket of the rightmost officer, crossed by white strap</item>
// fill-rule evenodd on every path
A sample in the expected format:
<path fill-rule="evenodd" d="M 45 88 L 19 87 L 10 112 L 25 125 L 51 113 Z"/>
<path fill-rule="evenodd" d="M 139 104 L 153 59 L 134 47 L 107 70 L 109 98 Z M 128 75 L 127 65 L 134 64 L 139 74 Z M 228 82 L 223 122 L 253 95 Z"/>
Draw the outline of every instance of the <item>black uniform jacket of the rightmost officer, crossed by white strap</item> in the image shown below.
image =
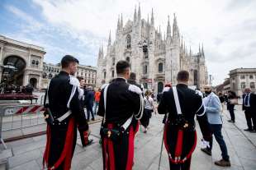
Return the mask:
<path fill-rule="evenodd" d="M 187 88 L 187 85 L 183 84 L 177 85 L 177 91 L 180 107 L 185 120 L 195 124 L 195 114 L 202 116 L 205 113 L 201 96 L 198 95 L 195 90 L 191 90 Z M 172 88 L 170 88 L 168 91 L 164 91 L 163 97 L 159 103 L 158 111 L 159 114 L 169 113 L 168 119 L 171 122 L 176 120 L 177 109 L 175 106 Z"/>

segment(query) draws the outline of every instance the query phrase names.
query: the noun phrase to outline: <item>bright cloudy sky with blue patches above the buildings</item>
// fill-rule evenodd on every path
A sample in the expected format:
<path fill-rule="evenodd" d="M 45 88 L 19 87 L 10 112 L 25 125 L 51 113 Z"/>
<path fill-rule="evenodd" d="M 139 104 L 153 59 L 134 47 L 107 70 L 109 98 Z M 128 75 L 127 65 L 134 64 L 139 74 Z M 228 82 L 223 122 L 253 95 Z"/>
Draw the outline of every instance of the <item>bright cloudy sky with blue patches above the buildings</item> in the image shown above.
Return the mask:
<path fill-rule="evenodd" d="M 118 15 L 133 19 L 139 2 L 147 19 L 154 8 L 155 26 L 166 31 L 168 15 L 178 16 L 187 47 L 204 44 L 213 84 L 231 69 L 256 67 L 255 0 L 0 0 L 0 34 L 45 48 L 45 62 L 70 53 L 81 64 L 96 66 L 100 44 L 116 31 Z M 149 15 L 150 16 L 150 15 Z M 112 34 L 114 39 L 114 34 Z"/>

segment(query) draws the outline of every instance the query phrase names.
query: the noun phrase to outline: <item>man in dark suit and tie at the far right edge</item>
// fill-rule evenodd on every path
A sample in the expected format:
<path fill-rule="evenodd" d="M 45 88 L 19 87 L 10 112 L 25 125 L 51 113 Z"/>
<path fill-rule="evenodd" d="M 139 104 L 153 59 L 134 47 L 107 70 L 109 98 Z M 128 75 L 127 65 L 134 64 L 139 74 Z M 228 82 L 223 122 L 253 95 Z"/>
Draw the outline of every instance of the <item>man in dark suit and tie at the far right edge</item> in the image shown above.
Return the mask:
<path fill-rule="evenodd" d="M 246 88 L 244 92 L 243 110 L 248 126 L 244 131 L 256 132 L 256 94 L 253 94 L 249 88 Z"/>

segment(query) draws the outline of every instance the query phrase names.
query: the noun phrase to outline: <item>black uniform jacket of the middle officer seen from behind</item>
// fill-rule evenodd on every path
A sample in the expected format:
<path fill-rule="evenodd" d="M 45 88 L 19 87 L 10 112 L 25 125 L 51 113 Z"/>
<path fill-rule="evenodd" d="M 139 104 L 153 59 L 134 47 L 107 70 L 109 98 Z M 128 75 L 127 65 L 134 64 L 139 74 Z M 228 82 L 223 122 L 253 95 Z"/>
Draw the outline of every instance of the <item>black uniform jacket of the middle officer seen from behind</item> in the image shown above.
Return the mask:
<path fill-rule="evenodd" d="M 133 114 L 140 112 L 140 94 L 129 90 L 124 78 L 116 78 L 107 89 L 106 123 L 123 124 Z M 135 86 L 138 90 L 138 87 Z M 99 102 L 98 115 L 104 116 L 104 89 Z M 141 92 L 141 90 L 140 90 Z"/>

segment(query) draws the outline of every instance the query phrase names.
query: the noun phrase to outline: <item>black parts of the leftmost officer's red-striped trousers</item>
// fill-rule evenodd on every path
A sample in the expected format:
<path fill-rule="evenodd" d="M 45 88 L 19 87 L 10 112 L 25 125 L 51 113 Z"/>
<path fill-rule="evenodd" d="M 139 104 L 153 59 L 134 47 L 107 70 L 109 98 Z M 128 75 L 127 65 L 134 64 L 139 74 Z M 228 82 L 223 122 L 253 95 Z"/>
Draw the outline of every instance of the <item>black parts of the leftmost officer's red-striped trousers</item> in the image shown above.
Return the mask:
<path fill-rule="evenodd" d="M 68 131 L 68 126 L 66 125 L 55 125 L 52 126 L 50 129 L 50 153 L 49 153 L 49 167 L 52 167 L 60 158 L 60 155 L 62 154 L 62 151 L 64 150 L 64 145 L 66 142 L 66 134 Z M 77 140 L 77 126 L 73 126 L 73 148 L 72 148 L 72 155 L 71 159 L 73 157 L 73 151 L 75 149 L 76 140 Z M 71 161 L 71 160 L 70 160 Z M 63 170 L 64 169 L 64 161 L 59 165 L 56 170 Z"/>

